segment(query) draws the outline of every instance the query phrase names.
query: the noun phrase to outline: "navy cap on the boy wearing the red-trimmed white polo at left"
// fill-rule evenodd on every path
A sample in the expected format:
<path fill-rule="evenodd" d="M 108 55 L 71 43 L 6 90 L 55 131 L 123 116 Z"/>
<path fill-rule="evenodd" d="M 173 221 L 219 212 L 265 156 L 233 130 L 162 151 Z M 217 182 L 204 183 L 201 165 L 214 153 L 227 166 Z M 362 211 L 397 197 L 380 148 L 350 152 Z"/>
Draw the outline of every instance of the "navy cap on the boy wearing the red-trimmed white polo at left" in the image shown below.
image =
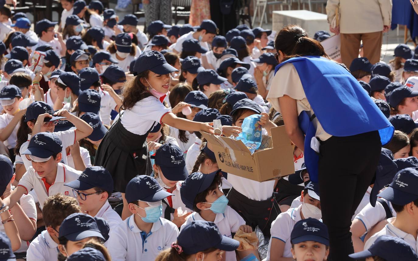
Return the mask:
<path fill-rule="evenodd" d="M 28 148 L 21 154 L 49 160 L 53 154 L 61 151 L 62 142 L 57 134 L 54 132 L 39 132 L 35 136 L 31 137 Z M 40 160 L 40 162 L 46 160 Z"/>

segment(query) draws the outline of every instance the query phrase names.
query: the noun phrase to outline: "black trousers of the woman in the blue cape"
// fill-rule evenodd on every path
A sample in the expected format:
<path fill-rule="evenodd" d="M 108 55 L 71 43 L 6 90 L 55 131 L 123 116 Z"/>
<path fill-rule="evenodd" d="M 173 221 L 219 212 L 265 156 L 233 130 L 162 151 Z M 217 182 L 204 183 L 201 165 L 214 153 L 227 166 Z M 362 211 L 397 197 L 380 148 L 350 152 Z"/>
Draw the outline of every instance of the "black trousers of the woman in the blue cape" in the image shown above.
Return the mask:
<path fill-rule="evenodd" d="M 375 175 L 381 146 L 377 131 L 321 142 L 319 193 L 331 261 L 352 261 L 351 217 Z"/>

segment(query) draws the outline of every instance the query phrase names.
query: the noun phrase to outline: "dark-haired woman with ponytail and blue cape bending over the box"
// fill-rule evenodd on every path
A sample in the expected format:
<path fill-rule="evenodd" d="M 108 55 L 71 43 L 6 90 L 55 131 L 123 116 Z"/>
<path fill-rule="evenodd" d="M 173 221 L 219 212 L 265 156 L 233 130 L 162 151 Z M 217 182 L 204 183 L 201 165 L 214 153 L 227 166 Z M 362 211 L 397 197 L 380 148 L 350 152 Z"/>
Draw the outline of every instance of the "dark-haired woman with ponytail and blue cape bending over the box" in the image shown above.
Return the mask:
<path fill-rule="evenodd" d="M 267 100 L 283 115 L 291 141 L 303 150 L 310 180 L 319 182 L 331 260 L 348 261 L 354 252 L 351 217 L 394 128 L 347 68 L 332 61 L 301 27 L 282 28 L 274 46 L 279 64 Z M 374 206 L 376 197 L 370 202 Z M 283 249 L 284 243 L 276 241 L 271 248 Z"/>

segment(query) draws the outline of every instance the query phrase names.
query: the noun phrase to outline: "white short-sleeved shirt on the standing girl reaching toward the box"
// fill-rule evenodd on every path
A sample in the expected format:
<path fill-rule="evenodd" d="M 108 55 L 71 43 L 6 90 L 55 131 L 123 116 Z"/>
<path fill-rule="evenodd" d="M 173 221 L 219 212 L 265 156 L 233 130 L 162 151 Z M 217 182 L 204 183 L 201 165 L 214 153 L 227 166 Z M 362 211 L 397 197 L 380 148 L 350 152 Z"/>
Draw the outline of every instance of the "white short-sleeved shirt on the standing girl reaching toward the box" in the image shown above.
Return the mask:
<path fill-rule="evenodd" d="M 171 109 L 166 108 L 155 96 L 149 96 L 137 101 L 132 109 L 125 110 L 121 123 L 128 131 L 143 135 L 151 127 L 161 123 L 161 118 L 169 112 Z"/>

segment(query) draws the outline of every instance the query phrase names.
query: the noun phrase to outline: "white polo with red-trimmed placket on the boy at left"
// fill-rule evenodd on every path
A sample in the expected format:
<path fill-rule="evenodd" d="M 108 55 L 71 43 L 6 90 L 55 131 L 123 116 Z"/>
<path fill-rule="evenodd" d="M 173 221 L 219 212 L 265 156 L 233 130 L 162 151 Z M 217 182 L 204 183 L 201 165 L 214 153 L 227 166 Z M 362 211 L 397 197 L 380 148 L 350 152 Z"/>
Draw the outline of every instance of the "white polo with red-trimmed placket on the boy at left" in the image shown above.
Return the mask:
<path fill-rule="evenodd" d="M 43 208 L 43 203 L 50 195 L 55 195 L 61 193 L 62 195 L 71 196 L 74 198 L 71 188 L 64 186 L 65 183 L 76 180 L 82 172 L 74 170 L 72 167 L 69 167 L 65 164 L 59 162 L 56 169 L 56 177 L 54 184 L 49 187 L 48 192 L 46 191 L 45 183 L 41 177 L 35 172 L 33 167 L 29 167 L 22 178 L 19 180 L 19 185 L 25 188 L 26 193 L 33 189 L 35 190 L 36 196 L 39 200 L 39 205 L 41 209 Z"/>

